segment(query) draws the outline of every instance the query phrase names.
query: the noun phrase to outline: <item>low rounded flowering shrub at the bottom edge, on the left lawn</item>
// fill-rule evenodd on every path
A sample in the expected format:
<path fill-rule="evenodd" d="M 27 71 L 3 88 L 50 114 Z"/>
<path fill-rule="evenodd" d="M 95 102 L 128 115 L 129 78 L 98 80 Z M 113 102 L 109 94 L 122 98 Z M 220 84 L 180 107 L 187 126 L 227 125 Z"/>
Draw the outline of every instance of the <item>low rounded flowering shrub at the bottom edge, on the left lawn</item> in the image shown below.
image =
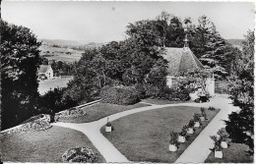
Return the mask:
<path fill-rule="evenodd" d="M 67 150 L 62 155 L 63 162 L 87 162 L 93 163 L 96 155 L 92 149 L 88 147 L 76 147 Z"/>

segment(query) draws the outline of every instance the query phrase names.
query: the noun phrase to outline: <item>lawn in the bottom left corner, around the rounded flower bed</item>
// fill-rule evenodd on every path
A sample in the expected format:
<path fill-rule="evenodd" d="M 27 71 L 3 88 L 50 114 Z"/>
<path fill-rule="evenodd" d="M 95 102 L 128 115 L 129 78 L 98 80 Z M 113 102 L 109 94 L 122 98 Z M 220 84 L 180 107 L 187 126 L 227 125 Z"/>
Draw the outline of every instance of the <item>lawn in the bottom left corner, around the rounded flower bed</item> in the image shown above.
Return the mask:
<path fill-rule="evenodd" d="M 72 147 L 87 146 L 96 153 L 96 162 L 105 162 L 83 133 L 52 127 L 46 131 L 1 135 L 1 156 L 11 162 L 62 162 L 62 154 Z"/>

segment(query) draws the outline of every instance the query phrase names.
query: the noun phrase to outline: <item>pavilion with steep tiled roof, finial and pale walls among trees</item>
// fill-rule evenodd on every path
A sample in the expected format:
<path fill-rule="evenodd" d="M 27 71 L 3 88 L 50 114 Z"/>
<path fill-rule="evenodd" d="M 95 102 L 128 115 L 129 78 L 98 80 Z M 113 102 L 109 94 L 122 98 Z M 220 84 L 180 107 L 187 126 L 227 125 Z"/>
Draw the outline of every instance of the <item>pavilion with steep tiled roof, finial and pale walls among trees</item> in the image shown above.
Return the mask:
<path fill-rule="evenodd" d="M 184 39 L 183 48 L 165 47 L 165 54 L 162 56 L 168 62 L 166 84 L 171 87 L 176 82 L 176 77 L 183 73 L 203 70 L 203 64 L 197 59 L 194 53 L 188 46 L 187 37 Z M 206 82 L 206 89 L 210 95 L 215 94 L 215 82 L 213 79 L 208 79 Z"/>

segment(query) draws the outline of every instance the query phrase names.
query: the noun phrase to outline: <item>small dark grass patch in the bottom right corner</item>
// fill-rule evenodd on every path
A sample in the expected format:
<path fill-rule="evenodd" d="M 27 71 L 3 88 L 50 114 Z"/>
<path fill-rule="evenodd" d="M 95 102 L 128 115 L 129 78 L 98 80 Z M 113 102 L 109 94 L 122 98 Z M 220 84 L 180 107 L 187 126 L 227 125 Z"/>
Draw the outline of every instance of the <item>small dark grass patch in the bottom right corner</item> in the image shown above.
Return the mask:
<path fill-rule="evenodd" d="M 249 147 L 245 144 L 230 143 L 228 148 L 224 149 L 224 157 L 222 159 L 215 158 L 214 152 L 206 159 L 206 163 L 253 163 L 253 156 L 249 156 L 246 151 Z"/>

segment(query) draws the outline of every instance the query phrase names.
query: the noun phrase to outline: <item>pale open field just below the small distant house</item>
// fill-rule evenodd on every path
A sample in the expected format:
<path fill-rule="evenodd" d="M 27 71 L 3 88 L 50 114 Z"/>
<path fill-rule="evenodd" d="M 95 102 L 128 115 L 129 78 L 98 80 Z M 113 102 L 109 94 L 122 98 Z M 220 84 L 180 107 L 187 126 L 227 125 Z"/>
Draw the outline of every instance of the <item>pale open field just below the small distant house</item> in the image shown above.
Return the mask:
<path fill-rule="evenodd" d="M 66 87 L 67 83 L 73 78 L 56 78 L 54 80 L 46 80 L 39 82 L 38 91 L 42 95 L 46 91 L 53 89 L 55 87 Z"/>

